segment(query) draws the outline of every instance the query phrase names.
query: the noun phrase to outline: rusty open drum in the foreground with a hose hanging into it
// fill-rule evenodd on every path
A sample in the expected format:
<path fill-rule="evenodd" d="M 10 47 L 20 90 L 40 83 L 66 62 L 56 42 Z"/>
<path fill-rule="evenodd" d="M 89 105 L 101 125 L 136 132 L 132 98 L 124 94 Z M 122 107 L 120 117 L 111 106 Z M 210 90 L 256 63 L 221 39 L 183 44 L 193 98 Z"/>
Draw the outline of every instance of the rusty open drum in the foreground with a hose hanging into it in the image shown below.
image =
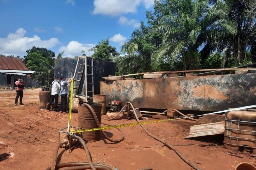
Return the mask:
<path fill-rule="evenodd" d="M 82 129 L 91 129 L 91 128 L 97 128 L 97 124 L 95 120 L 93 119 L 92 113 L 89 111 L 89 109 L 84 106 L 85 102 L 80 102 L 78 105 L 78 127 L 81 127 Z M 92 109 L 94 110 L 95 114 L 97 115 L 97 118 L 99 122 L 101 121 L 101 104 L 100 103 L 94 103 L 94 102 L 86 102 L 88 103 Z M 97 141 L 100 139 L 100 131 L 91 131 L 91 132 L 83 132 L 83 139 L 85 141 Z"/>

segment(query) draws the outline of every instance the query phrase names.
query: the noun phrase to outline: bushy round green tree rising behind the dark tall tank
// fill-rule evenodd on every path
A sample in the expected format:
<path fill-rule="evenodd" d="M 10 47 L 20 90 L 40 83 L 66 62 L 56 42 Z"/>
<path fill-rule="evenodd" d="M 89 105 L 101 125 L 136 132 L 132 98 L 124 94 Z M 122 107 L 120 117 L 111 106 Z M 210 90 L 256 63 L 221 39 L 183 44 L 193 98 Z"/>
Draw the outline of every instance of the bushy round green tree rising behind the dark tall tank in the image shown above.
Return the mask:
<path fill-rule="evenodd" d="M 108 39 L 99 41 L 95 47 L 88 51 L 94 52 L 91 57 L 105 61 L 113 61 L 113 58 L 119 55 L 116 48 L 109 45 Z"/>

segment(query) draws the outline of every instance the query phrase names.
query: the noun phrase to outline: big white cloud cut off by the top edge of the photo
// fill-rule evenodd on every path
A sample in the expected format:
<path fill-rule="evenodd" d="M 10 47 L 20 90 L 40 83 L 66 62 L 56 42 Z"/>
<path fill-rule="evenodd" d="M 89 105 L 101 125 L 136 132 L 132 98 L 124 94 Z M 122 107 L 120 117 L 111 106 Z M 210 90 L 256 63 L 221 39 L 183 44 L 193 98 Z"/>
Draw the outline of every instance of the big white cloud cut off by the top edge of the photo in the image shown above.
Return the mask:
<path fill-rule="evenodd" d="M 93 14 L 118 16 L 120 14 L 136 13 L 140 4 L 145 8 L 154 5 L 154 0 L 94 0 Z"/>

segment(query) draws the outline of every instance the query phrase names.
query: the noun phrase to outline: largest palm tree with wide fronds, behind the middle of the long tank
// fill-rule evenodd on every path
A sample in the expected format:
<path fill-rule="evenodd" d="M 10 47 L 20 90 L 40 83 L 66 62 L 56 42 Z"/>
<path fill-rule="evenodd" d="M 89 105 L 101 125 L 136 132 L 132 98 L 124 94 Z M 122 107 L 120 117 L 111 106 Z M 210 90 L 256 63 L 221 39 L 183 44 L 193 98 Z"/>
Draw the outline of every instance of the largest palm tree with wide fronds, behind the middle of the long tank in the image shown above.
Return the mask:
<path fill-rule="evenodd" d="M 223 37 L 237 33 L 235 23 L 226 19 L 227 5 L 220 1 L 212 5 L 208 3 L 208 0 L 166 1 L 155 29 L 162 34 L 162 45 L 156 48 L 152 57 L 153 68 L 167 56 L 172 61 L 179 58 L 184 70 L 194 69 L 199 66 L 197 63 L 205 46 L 211 52 L 217 50 L 215 45 Z M 201 49 L 200 54 L 198 49 Z"/>

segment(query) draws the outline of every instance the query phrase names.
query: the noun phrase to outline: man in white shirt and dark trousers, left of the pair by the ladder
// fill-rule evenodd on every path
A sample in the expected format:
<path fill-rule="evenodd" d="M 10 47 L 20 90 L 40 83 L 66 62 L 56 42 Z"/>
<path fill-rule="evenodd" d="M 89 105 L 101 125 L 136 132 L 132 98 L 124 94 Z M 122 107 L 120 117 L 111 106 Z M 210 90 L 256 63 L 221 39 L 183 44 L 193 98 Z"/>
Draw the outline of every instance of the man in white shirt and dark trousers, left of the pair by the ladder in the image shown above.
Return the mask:
<path fill-rule="evenodd" d="M 57 111 L 57 105 L 58 105 L 58 101 L 59 101 L 59 90 L 60 90 L 60 84 L 59 84 L 59 77 L 56 76 L 55 80 L 52 82 L 52 99 L 49 102 L 48 106 L 47 106 L 47 110 L 50 110 L 51 104 L 54 102 L 54 110 L 55 112 Z"/>

